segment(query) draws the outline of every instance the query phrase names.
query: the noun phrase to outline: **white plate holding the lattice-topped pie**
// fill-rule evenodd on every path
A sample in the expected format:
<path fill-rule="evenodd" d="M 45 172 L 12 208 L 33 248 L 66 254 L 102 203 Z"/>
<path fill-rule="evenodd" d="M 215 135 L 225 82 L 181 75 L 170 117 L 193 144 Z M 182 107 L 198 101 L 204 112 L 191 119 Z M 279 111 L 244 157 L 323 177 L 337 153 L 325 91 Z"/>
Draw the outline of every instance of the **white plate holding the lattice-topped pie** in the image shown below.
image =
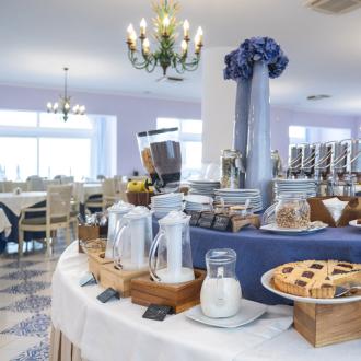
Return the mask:
<path fill-rule="evenodd" d="M 284 293 L 273 288 L 273 284 L 271 282 L 273 272 L 275 269 L 270 269 L 269 271 L 264 273 L 263 277 L 260 278 L 260 282 L 264 286 L 264 288 L 266 288 L 268 291 L 281 295 L 284 299 L 303 302 L 303 303 L 316 303 L 316 304 L 340 304 L 340 303 L 361 301 L 361 295 L 350 295 L 338 299 L 313 299 L 313 298 L 302 298 L 301 295 Z"/>

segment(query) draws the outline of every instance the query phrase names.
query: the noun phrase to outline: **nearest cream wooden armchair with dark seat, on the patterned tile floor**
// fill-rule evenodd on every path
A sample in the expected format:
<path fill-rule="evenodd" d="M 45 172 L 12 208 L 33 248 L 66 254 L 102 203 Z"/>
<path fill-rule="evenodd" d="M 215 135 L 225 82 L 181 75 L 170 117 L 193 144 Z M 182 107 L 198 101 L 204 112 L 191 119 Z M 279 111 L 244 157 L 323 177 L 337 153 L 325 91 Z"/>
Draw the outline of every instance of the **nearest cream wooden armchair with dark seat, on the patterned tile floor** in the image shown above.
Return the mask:
<path fill-rule="evenodd" d="M 70 200 L 71 185 L 49 186 L 46 207 L 30 207 L 22 210 L 19 220 L 19 255 L 23 254 L 24 232 L 45 232 L 48 253 L 51 253 L 51 233 L 66 229 L 66 241 L 70 244 Z M 45 216 L 34 217 L 38 212 Z M 26 217 L 26 216 L 32 216 Z"/>

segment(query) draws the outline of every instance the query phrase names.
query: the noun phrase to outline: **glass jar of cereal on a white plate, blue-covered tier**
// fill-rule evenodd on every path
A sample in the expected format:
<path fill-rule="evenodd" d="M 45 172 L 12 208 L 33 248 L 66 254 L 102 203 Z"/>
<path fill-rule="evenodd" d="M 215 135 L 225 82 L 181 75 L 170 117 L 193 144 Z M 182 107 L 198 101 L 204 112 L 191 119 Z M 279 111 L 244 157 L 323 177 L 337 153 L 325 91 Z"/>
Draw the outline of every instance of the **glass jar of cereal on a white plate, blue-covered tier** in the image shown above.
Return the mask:
<path fill-rule="evenodd" d="M 283 194 L 276 206 L 276 224 L 281 229 L 304 229 L 310 225 L 310 205 L 305 195 Z"/>

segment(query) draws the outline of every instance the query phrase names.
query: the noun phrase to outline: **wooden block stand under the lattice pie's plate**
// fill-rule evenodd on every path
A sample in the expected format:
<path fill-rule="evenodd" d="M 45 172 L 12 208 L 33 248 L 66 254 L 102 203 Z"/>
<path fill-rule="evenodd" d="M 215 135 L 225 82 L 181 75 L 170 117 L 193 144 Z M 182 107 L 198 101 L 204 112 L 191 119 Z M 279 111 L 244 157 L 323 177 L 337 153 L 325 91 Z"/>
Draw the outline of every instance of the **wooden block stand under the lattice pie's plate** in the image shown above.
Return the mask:
<path fill-rule="evenodd" d="M 314 347 L 361 338 L 361 301 L 342 304 L 294 302 L 294 328 Z"/>

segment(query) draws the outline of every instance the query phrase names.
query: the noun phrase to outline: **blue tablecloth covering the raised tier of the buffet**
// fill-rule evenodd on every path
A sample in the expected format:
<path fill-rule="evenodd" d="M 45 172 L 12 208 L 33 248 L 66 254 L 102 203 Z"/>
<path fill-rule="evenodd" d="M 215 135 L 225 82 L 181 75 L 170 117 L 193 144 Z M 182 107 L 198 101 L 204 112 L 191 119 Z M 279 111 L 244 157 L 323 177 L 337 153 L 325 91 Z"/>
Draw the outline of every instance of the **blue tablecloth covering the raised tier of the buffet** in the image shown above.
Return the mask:
<path fill-rule="evenodd" d="M 154 235 L 158 223 L 153 222 Z M 340 259 L 361 263 L 361 232 L 346 226 L 326 229 L 308 235 L 278 235 L 246 228 L 226 233 L 190 228 L 193 261 L 206 268 L 205 255 L 211 248 L 233 248 L 237 254 L 236 275 L 244 298 L 267 304 L 291 304 L 267 291 L 260 277 L 279 265 L 304 259 Z"/>

